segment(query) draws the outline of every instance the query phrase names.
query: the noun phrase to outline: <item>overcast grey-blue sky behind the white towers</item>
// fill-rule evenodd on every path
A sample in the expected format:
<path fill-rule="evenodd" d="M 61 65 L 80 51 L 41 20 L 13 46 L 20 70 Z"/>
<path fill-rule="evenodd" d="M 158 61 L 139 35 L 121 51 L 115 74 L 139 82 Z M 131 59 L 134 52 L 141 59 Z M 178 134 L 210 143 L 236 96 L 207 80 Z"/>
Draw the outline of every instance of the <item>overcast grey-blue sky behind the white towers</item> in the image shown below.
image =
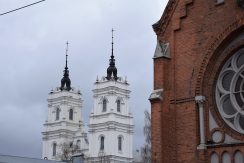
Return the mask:
<path fill-rule="evenodd" d="M 130 83 L 134 149 L 144 143 L 153 88 L 157 22 L 167 0 L 46 0 L 0 16 L 0 154 L 41 157 L 47 96 L 60 86 L 66 41 L 72 87 L 83 94 L 85 124 L 97 75 L 106 75 L 111 28 L 118 76 Z M 35 0 L 1 0 L 0 14 Z"/>

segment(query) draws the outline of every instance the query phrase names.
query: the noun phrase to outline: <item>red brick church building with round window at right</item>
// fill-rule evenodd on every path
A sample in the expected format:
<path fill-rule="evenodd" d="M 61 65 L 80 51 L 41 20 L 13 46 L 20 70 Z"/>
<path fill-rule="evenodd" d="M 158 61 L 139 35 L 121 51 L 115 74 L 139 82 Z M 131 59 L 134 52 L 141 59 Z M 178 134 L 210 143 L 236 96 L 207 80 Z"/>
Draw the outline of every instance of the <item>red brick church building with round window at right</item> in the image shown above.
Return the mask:
<path fill-rule="evenodd" d="M 169 0 L 153 29 L 153 162 L 243 163 L 244 1 Z"/>

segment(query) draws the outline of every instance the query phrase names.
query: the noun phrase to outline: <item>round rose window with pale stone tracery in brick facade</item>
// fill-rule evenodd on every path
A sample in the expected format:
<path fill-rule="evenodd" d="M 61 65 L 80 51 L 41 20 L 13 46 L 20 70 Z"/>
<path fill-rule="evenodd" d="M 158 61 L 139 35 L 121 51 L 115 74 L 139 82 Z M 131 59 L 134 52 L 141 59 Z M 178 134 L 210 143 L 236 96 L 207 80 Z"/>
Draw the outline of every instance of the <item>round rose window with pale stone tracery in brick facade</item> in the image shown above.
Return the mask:
<path fill-rule="evenodd" d="M 244 134 L 244 49 L 236 52 L 221 69 L 216 104 L 223 120 Z"/>

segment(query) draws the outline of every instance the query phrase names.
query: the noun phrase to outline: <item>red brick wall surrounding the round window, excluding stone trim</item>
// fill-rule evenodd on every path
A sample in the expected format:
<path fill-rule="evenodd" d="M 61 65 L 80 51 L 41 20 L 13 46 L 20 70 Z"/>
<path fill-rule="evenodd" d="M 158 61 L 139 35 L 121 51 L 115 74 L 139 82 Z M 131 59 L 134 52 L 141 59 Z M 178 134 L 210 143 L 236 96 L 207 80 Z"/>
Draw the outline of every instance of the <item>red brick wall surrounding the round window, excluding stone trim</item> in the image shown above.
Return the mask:
<path fill-rule="evenodd" d="M 170 43 L 171 58 L 154 59 L 154 89 L 164 89 L 163 100 L 152 102 L 152 156 L 162 163 L 209 162 L 218 147 L 197 150 L 199 145 L 196 95 L 206 96 L 205 130 L 208 131 L 208 109 L 214 107 L 213 84 L 223 61 L 231 52 L 223 49 L 243 32 L 244 9 L 235 0 L 216 4 L 215 0 L 170 0 L 155 24 L 159 40 Z M 243 44 L 240 43 L 240 48 Z M 217 117 L 218 115 L 216 115 Z M 222 121 L 223 129 L 239 140 Z M 235 147 L 243 150 L 244 146 Z M 233 150 L 233 149 L 232 149 Z M 232 151 L 233 152 L 233 151 Z"/>

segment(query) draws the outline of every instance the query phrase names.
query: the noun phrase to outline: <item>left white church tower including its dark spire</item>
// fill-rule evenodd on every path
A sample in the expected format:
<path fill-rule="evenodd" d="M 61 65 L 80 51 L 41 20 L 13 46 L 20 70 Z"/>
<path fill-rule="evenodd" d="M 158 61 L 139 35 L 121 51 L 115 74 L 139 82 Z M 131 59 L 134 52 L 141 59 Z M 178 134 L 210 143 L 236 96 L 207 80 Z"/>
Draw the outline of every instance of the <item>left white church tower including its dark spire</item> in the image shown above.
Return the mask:
<path fill-rule="evenodd" d="M 42 158 L 48 160 L 66 160 L 75 153 L 88 150 L 87 134 L 83 131 L 81 118 L 81 92 L 71 87 L 67 65 L 68 43 L 66 49 L 66 65 L 61 86 L 51 90 L 48 96 L 48 117 L 44 123 Z"/>

